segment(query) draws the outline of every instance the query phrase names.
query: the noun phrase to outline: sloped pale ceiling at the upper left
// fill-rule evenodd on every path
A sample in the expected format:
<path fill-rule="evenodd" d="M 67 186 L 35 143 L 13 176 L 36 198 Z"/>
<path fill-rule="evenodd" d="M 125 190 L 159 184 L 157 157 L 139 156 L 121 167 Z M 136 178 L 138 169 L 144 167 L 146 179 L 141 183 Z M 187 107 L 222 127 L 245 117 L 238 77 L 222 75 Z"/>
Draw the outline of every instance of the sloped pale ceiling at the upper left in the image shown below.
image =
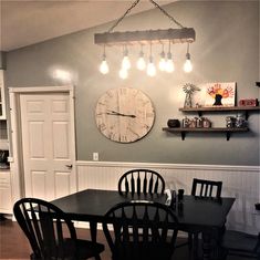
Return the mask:
<path fill-rule="evenodd" d="M 160 6 L 174 2 L 156 1 Z M 0 0 L 0 51 L 11 51 L 118 19 L 126 0 Z M 153 9 L 141 0 L 131 13 Z"/>

